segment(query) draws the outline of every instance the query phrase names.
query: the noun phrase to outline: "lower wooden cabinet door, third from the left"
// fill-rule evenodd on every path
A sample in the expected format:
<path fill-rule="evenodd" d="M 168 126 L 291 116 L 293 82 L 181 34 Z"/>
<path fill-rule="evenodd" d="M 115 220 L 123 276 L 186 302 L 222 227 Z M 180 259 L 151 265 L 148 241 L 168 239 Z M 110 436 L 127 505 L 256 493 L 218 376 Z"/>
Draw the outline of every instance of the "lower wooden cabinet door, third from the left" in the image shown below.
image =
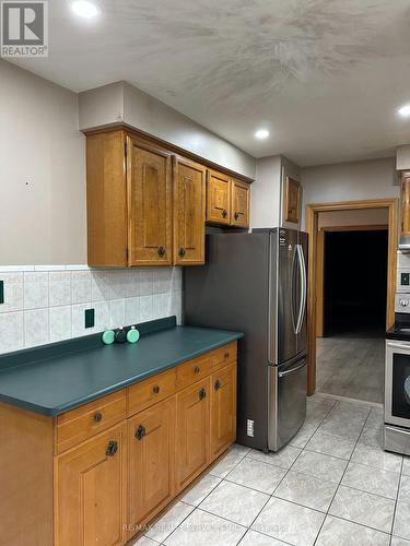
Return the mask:
<path fill-rule="evenodd" d="M 210 378 L 177 394 L 176 487 L 184 489 L 209 462 Z"/>

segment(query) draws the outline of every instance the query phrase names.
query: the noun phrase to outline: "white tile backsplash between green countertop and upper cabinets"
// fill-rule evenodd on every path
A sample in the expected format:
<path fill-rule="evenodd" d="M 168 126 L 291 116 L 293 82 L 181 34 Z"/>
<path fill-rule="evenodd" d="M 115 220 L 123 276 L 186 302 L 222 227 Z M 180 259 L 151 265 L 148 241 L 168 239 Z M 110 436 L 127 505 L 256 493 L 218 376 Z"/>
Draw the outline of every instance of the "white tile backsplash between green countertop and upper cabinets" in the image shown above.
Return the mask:
<path fill-rule="evenodd" d="M 181 269 L 1 266 L 0 354 L 176 314 L 181 322 Z M 95 309 L 94 328 L 84 311 Z"/>

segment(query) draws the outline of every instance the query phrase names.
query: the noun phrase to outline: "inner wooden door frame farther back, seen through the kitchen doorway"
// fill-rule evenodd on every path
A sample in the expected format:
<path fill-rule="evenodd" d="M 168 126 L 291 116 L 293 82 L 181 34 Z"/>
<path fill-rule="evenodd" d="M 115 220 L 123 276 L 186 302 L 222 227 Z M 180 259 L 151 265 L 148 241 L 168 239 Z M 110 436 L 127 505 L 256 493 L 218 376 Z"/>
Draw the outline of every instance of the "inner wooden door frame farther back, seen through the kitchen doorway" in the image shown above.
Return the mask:
<path fill-rule="evenodd" d="M 326 234 L 342 232 L 383 232 L 388 230 L 388 224 L 363 226 L 324 226 L 317 232 L 316 242 L 316 337 L 323 337 L 325 331 L 325 259 Z"/>

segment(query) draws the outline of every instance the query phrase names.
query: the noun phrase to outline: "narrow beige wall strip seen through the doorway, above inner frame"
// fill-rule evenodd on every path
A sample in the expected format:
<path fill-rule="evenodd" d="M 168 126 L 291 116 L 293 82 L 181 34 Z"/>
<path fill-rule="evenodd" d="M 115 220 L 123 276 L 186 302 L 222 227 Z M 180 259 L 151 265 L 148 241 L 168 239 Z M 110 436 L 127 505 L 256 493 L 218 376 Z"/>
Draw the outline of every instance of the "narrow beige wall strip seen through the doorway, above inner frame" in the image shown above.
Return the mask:
<path fill-rule="evenodd" d="M 318 227 L 388 225 L 388 209 L 320 212 Z"/>

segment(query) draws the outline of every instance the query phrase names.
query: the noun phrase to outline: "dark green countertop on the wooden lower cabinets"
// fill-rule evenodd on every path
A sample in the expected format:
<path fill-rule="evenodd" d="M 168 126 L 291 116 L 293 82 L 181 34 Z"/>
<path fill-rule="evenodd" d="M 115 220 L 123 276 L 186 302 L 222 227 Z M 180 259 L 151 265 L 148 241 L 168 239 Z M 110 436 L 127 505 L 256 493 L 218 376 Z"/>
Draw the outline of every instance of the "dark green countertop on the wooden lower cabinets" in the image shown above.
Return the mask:
<path fill-rule="evenodd" d="M 175 327 L 141 335 L 136 345 L 68 342 L 0 357 L 0 401 L 54 416 L 122 389 L 243 336 Z M 161 322 L 161 321 L 156 321 Z M 58 347 L 58 349 L 56 348 Z"/>

